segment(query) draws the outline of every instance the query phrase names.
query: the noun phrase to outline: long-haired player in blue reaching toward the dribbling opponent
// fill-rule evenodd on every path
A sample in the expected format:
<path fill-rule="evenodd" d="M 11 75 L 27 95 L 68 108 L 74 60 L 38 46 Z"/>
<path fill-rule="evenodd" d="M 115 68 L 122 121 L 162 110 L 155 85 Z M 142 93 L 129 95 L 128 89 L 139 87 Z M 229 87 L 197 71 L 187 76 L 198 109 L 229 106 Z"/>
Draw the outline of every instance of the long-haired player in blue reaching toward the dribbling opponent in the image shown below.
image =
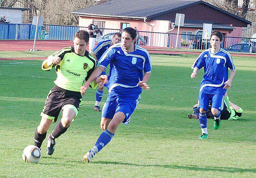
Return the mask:
<path fill-rule="evenodd" d="M 100 123 L 104 131 L 93 148 L 84 155 L 86 162 L 91 162 L 95 154 L 110 142 L 121 122 L 130 122 L 142 89 L 149 89 L 146 83 L 151 75 L 150 56 L 147 50 L 135 45 L 135 42 L 136 30 L 131 27 L 124 28 L 121 43 L 108 49 L 101 57 L 99 66 L 81 86 L 80 92 L 84 94 L 90 81 L 97 78 L 110 63 L 108 82 L 105 84 L 108 88 L 108 98 L 102 108 Z"/>

